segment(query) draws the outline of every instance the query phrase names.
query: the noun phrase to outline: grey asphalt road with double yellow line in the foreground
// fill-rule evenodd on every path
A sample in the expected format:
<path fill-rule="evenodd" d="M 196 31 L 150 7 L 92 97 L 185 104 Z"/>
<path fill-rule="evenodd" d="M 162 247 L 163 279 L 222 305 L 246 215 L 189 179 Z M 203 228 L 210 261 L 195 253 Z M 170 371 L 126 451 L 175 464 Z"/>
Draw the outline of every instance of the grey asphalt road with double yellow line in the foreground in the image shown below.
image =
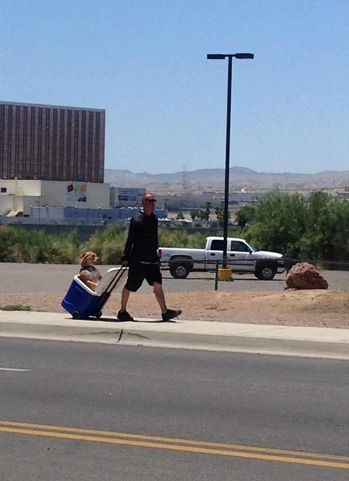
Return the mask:
<path fill-rule="evenodd" d="M 1 339 L 0 366 L 29 369 L 0 371 L 6 481 L 348 480 L 345 362 Z"/>

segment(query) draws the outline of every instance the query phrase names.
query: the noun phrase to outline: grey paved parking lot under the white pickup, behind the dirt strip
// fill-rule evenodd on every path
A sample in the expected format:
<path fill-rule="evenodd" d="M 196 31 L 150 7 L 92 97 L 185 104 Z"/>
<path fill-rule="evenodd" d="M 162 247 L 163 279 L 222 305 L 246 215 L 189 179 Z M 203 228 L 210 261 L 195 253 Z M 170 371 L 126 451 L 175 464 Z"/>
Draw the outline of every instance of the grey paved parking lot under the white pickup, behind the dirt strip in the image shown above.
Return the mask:
<path fill-rule="evenodd" d="M 110 267 L 99 266 L 103 275 Z M 56 264 L 0 263 L 0 292 L 65 292 L 68 290 L 79 266 Z M 162 271 L 165 292 L 213 291 L 214 273 L 192 272 L 186 279 L 174 279 L 168 270 Z M 329 289 L 349 289 L 347 271 L 321 271 Z M 218 282 L 219 291 L 283 291 L 286 273 L 276 274 L 271 281 L 258 280 L 253 274 L 236 274 L 234 282 Z M 124 283 L 126 278 L 124 279 Z M 115 292 L 121 292 L 122 285 Z M 152 292 L 143 282 L 138 293 Z"/>

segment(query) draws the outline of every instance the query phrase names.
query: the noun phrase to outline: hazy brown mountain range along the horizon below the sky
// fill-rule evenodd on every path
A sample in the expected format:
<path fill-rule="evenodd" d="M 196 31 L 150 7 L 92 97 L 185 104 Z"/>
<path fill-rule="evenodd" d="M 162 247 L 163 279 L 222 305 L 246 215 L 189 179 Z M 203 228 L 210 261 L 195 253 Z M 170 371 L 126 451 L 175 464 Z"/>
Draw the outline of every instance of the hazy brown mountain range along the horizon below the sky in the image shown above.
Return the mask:
<path fill-rule="evenodd" d="M 230 190 L 247 189 L 340 189 L 349 185 L 349 171 L 324 171 L 319 174 L 273 174 L 246 167 L 231 167 Z M 104 181 L 115 187 L 140 187 L 153 190 L 224 190 L 224 169 L 200 169 L 174 174 L 137 173 L 129 170 L 104 171 Z"/>

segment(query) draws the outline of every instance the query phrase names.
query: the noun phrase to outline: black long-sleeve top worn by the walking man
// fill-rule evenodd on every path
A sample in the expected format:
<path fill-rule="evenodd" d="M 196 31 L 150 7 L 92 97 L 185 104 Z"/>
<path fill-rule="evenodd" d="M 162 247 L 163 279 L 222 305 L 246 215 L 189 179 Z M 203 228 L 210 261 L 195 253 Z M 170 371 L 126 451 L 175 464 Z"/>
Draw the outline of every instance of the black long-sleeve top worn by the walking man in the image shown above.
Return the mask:
<path fill-rule="evenodd" d="M 122 261 L 157 263 L 158 218 L 151 213 L 132 217 Z"/>

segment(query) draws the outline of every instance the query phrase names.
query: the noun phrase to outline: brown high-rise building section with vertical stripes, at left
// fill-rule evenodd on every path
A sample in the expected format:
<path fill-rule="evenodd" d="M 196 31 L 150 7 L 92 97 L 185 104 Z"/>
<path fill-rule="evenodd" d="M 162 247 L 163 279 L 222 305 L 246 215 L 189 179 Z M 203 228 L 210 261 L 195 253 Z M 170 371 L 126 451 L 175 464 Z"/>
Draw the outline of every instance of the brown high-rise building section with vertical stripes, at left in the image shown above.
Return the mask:
<path fill-rule="evenodd" d="M 0 179 L 104 180 L 105 110 L 0 101 Z"/>

